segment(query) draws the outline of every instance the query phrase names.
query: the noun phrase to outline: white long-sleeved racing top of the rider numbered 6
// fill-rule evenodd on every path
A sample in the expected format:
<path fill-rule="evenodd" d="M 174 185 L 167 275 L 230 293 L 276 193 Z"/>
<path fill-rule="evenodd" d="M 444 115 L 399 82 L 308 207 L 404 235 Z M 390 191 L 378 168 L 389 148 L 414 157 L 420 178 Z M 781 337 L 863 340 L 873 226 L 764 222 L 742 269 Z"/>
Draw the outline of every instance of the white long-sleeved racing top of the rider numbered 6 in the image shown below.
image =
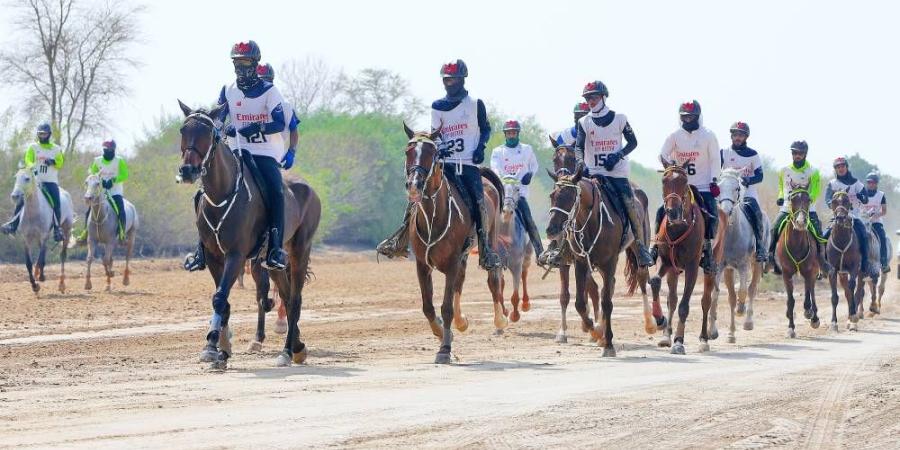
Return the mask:
<path fill-rule="evenodd" d="M 687 165 L 688 183 L 700 192 L 709 192 L 709 184 L 719 177 L 722 170 L 722 155 L 716 136 L 701 126 L 693 133 L 678 128 L 663 144 L 660 156 L 666 161 L 674 161 L 679 166 Z"/>

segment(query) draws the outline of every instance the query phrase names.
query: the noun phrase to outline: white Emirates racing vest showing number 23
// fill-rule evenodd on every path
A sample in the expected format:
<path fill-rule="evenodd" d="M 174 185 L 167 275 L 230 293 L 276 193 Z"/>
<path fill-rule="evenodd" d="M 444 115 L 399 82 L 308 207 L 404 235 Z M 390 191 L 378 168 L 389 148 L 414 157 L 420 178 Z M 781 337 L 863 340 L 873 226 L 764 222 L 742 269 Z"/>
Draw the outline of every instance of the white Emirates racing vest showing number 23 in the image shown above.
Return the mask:
<path fill-rule="evenodd" d="M 450 111 L 431 110 L 431 129 L 441 129 L 441 145 L 451 153 L 448 163 L 475 165 L 472 155 L 478 146 L 481 129 L 478 127 L 478 102 L 471 96 L 462 99 Z"/>

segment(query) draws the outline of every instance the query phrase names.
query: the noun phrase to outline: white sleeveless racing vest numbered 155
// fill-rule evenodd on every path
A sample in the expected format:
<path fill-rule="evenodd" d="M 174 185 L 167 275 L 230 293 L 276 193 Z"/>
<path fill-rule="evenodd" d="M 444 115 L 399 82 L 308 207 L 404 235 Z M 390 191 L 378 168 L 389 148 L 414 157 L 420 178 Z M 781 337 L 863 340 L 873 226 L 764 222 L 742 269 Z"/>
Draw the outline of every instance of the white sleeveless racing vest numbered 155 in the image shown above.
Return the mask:
<path fill-rule="evenodd" d="M 603 175 L 614 178 L 628 178 L 631 172 L 631 164 L 628 157 L 622 158 L 613 170 L 606 170 L 603 163 L 610 153 L 622 150 L 622 131 L 628 118 L 624 114 L 616 114 L 613 121 L 601 127 L 587 115 L 578 119 L 584 129 L 584 164 L 587 165 L 591 175 Z"/>

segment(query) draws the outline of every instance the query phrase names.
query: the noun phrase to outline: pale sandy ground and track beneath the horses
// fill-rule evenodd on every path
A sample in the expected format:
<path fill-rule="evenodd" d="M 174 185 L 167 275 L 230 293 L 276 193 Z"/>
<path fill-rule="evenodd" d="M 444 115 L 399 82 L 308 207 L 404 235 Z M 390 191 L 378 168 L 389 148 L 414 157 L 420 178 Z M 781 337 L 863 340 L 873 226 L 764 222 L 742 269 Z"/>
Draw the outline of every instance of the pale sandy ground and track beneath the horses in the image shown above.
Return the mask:
<path fill-rule="evenodd" d="M 117 262 L 119 270 L 121 263 Z M 39 298 L 24 268 L 0 266 L 0 446 L 64 448 L 587 447 L 897 448 L 900 316 L 889 276 L 884 314 L 840 331 L 785 337 L 784 296 L 756 303 L 756 328 L 739 328 L 697 353 L 699 300 L 688 355 L 656 346 L 640 298 L 617 295 L 618 357 L 581 333 L 569 312 L 558 329 L 558 278 L 532 274 L 533 309 L 493 335 L 485 276 L 475 264 L 463 295 L 470 319 L 450 366 L 432 364 L 438 343 L 421 313 L 410 262 L 315 252 L 301 329 L 307 364 L 275 368 L 283 336 L 244 351 L 255 329 L 251 289 L 232 295 L 236 354 L 225 372 L 197 361 L 212 282 L 174 260 L 138 261 L 132 285 L 113 292 L 55 292 L 55 268 Z M 96 266 L 95 266 L 96 267 Z M 893 275 L 893 274 L 890 274 Z M 248 287 L 252 282 L 248 278 Z M 436 292 L 443 281 L 438 278 Z M 624 283 L 620 282 L 619 285 Z M 509 284 L 507 284 L 509 286 Z M 824 286 L 823 286 L 824 287 Z M 102 290 L 102 289 L 101 289 Z M 827 291 L 819 308 L 830 316 Z M 722 320 L 724 319 L 724 320 Z"/>

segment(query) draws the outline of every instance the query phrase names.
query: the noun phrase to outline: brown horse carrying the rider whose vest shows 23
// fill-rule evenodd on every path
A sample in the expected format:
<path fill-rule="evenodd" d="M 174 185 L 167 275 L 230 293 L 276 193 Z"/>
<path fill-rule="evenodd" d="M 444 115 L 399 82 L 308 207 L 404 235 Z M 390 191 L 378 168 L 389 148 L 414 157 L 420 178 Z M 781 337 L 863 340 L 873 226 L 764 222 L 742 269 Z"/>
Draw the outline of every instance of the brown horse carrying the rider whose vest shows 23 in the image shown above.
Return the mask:
<path fill-rule="evenodd" d="M 449 364 L 453 343 L 450 322 L 460 332 L 469 328 L 460 298 L 466 279 L 469 249 L 475 240 L 474 221 L 469 208 L 464 206 L 466 202 L 460 188 L 444 174 L 443 162 L 438 157 L 435 144 L 435 139 L 440 136 L 440 127 L 432 133 L 414 132 L 404 123 L 403 129 L 409 138 L 405 150 L 406 189 L 410 207 L 413 208 L 409 238 L 416 256 L 422 312 L 432 334 L 441 341 L 434 358 L 435 364 Z M 482 217 L 489 239 L 486 244 L 496 248 L 503 185 L 490 169 L 481 169 L 481 176 L 485 209 L 489 212 Z M 432 303 L 431 277 L 434 269 L 446 278 L 440 318 L 436 316 Z M 488 271 L 487 283 L 493 300 L 495 333 L 499 334 L 509 323 L 503 305 L 503 269 Z"/>

